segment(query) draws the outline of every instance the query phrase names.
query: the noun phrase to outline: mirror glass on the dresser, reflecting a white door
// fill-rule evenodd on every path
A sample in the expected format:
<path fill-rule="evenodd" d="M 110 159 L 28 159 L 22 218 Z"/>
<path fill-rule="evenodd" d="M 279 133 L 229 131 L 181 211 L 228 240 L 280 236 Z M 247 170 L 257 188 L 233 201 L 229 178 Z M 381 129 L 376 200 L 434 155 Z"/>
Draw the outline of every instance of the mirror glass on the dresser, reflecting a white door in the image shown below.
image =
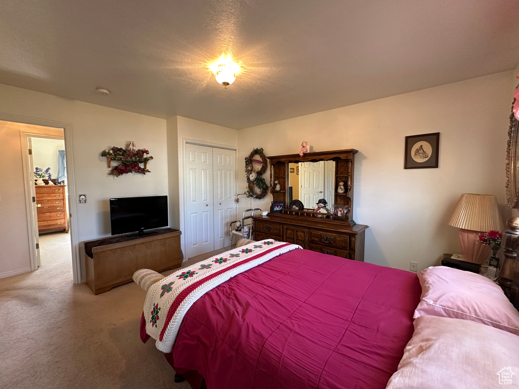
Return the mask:
<path fill-rule="evenodd" d="M 335 201 L 335 161 L 289 164 L 289 204 L 300 200 L 305 209 L 313 210 L 320 199 L 332 208 Z"/>

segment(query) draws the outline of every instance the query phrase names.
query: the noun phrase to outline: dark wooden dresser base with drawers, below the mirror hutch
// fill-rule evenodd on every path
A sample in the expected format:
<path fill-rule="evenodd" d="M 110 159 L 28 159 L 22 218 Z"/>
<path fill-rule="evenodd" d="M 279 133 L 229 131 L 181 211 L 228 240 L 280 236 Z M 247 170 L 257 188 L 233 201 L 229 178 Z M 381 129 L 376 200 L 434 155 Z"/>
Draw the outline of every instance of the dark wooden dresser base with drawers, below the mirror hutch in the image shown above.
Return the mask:
<path fill-rule="evenodd" d="M 356 224 L 345 228 L 333 220 L 269 213 L 253 216 L 253 240 L 275 239 L 295 243 L 311 251 L 364 261 L 364 231 Z"/>

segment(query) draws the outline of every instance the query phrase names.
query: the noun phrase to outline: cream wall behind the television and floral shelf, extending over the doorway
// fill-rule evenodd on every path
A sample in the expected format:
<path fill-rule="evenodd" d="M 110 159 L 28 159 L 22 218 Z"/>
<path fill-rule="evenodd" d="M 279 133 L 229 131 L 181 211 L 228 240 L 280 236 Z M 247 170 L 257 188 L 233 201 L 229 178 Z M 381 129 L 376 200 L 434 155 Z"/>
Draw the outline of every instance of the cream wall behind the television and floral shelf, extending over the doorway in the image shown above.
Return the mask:
<path fill-rule="evenodd" d="M 73 215 L 79 242 L 110 235 L 111 197 L 168 194 L 166 120 L 1 84 L 0 107 L 8 115 L 71 124 L 75 191 L 87 195 L 87 203 L 77 204 L 77 214 Z M 151 151 L 151 173 L 107 175 L 106 158 L 101 157 L 101 151 L 112 146 L 126 147 L 129 141 Z M 25 224 L 25 220 L 20 223 Z M 3 248 L 4 245 L 0 246 L 0 253 Z M 79 253 L 85 279 L 82 244 Z"/>

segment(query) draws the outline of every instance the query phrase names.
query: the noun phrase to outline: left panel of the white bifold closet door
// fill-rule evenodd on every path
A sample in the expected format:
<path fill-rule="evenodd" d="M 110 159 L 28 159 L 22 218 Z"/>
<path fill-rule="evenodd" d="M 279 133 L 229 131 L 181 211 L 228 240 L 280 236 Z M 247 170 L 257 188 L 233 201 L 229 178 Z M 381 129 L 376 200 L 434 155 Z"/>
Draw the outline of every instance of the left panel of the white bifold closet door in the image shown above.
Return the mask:
<path fill-rule="evenodd" d="M 192 258 L 214 250 L 213 150 L 185 145 L 186 255 Z"/>

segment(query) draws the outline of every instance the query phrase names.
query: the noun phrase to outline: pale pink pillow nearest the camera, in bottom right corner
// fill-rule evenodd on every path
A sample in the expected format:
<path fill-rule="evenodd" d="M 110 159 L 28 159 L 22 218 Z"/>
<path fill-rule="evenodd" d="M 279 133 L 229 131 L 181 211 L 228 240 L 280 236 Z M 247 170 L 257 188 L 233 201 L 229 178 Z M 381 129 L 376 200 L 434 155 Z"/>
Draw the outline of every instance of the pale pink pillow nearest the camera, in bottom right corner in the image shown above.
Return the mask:
<path fill-rule="evenodd" d="M 414 326 L 386 389 L 516 387 L 519 337 L 445 317 L 421 316 Z"/>

